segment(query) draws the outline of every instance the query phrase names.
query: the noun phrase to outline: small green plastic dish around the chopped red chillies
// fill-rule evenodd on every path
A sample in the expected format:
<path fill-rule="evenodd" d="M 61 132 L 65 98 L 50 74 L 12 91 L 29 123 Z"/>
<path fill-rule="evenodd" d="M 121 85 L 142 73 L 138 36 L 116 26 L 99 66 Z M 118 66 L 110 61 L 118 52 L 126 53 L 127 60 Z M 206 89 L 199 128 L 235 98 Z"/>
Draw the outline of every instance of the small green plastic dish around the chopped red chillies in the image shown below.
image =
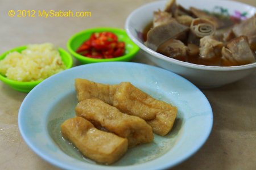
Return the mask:
<path fill-rule="evenodd" d="M 76 53 L 76 49 L 84 42 L 88 40 L 90 35 L 94 32 L 104 32 L 109 31 L 115 33 L 118 36 L 118 41 L 125 42 L 125 56 L 116 57 L 116 58 L 108 58 L 108 59 L 97 59 L 82 56 Z M 86 63 L 94 63 L 94 62 L 109 62 L 109 61 L 129 61 L 131 58 L 135 56 L 135 54 L 139 51 L 139 47 L 134 44 L 133 41 L 127 36 L 124 29 L 119 28 L 90 28 L 84 31 L 78 32 L 73 35 L 67 42 L 67 48 L 69 52 L 78 59 L 82 64 Z"/>

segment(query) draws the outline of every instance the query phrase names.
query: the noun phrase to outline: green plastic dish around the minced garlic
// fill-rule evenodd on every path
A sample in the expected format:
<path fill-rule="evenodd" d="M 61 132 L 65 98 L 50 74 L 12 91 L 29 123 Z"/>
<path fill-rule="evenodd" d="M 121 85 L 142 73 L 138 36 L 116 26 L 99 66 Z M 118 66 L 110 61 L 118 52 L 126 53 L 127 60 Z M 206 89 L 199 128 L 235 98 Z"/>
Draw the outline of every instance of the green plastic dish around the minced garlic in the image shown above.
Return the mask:
<path fill-rule="evenodd" d="M 11 52 L 21 52 L 22 50 L 24 50 L 26 48 L 27 48 L 27 46 L 19 46 L 19 47 L 13 48 L 11 50 L 8 50 L 7 52 L 1 54 L 0 60 L 5 58 L 6 55 Z M 58 50 L 60 53 L 60 57 L 61 57 L 62 61 L 64 62 L 64 65 L 66 66 L 66 69 L 71 68 L 73 65 L 73 60 L 72 60 L 71 55 L 62 48 L 59 48 Z M 38 85 L 40 82 L 43 81 L 43 80 L 40 80 L 40 81 L 32 81 L 32 82 L 18 82 L 15 80 L 8 79 L 8 78 L 6 78 L 5 75 L 2 75 L 2 74 L 0 74 L 0 80 L 2 80 L 3 83 L 12 87 L 14 90 L 20 91 L 20 92 L 30 92 L 36 85 Z"/>

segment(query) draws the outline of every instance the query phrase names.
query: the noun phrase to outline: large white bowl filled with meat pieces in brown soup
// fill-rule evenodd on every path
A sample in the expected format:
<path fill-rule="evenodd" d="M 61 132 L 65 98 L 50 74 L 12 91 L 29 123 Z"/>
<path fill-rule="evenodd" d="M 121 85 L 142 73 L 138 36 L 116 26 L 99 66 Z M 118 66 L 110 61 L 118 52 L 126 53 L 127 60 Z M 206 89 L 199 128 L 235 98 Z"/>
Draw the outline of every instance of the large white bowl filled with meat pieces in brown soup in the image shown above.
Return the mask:
<path fill-rule="evenodd" d="M 125 28 L 141 57 L 214 88 L 256 71 L 255 13 L 233 1 L 156 1 L 131 12 Z"/>

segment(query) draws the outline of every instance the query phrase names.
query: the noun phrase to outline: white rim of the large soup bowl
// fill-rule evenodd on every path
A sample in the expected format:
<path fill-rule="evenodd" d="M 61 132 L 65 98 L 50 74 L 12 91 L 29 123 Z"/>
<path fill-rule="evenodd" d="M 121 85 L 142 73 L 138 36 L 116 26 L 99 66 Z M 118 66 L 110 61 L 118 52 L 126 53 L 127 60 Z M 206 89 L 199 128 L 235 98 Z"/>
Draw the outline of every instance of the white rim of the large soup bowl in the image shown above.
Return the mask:
<path fill-rule="evenodd" d="M 139 46 L 139 48 L 141 48 L 144 52 L 149 53 L 151 56 L 154 56 L 156 58 L 159 59 L 163 59 L 164 61 L 170 62 L 170 63 L 174 63 L 176 65 L 180 65 L 183 67 L 189 67 L 192 69 L 198 69 L 198 70 L 209 70 L 209 71 L 236 71 L 236 70 L 245 70 L 245 69 L 251 69 L 251 68 L 256 68 L 256 62 L 254 63 L 250 63 L 247 65 L 241 65 L 241 66 L 206 66 L 206 65 L 197 65 L 195 63 L 189 63 L 189 62 L 184 62 L 184 61 L 179 61 L 177 59 L 174 58 L 170 58 L 167 56 L 164 56 L 163 54 L 157 53 L 154 50 L 148 48 L 146 45 L 142 44 L 142 42 L 138 41 L 136 39 L 136 37 L 133 36 L 133 34 L 131 33 L 131 30 L 129 29 L 129 25 L 131 23 L 131 18 L 133 17 L 133 15 L 135 15 L 138 11 L 142 10 L 143 8 L 146 8 L 147 6 L 151 6 L 154 4 L 159 4 L 159 3 L 163 3 L 163 1 L 166 0 L 162 0 L 162 1 L 155 1 L 155 2 L 150 2 L 150 3 L 146 3 L 138 8 L 136 8 L 134 11 L 132 11 L 129 16 L 126 19 L 125 22 L 125 30 L 127 35 L 130 37 L 131 40 L 133 40 L 133 42 L 135 44 L 137 44 Z M 212 1 L 212 0 L 209 0 Z M 245 6 L 249 6 L 251 8 L 255 8 L 253 6 L 247 5 L 245 3 L 242 2 L 236 2 L 236 1 L 226 1 L 226 0 L 214 0 L 212 2 L 214 3 L 218 3 L 218 2 L 228 2 L 228 3 L 237 3 L 237 5 L 245 5 Z M 156 9 L 157 10 L 157 9 Z M 256 10 L 256 8 L 255 8 Z"/>

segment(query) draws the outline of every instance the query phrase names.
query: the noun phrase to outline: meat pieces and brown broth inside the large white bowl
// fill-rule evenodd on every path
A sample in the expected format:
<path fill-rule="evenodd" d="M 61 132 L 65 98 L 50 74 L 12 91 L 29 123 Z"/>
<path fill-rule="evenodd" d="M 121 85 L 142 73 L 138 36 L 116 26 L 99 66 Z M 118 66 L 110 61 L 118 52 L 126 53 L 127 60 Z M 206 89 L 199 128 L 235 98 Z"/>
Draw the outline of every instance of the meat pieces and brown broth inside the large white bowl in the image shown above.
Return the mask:
<path fill-rule="evenodd" d="M 144 44 L 164 56 L 209 66 L 255 62 L 256 14 L 240 20 L 171 0 L 153 16 L 143 31 Z"/>

